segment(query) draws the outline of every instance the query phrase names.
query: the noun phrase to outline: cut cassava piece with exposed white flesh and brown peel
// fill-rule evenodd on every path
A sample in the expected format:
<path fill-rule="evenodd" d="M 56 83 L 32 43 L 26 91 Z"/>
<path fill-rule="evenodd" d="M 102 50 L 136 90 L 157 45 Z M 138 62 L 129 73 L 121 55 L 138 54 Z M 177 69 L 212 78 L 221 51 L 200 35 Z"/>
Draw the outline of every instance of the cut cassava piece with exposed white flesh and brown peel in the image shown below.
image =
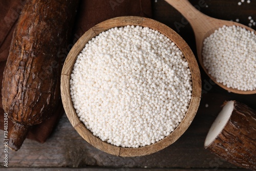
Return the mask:
<path fill-rule="evenodd" d="M 228 101 L 211 125 L 205 148 L 240 167 L 256 169 L 256 112 Z"/>

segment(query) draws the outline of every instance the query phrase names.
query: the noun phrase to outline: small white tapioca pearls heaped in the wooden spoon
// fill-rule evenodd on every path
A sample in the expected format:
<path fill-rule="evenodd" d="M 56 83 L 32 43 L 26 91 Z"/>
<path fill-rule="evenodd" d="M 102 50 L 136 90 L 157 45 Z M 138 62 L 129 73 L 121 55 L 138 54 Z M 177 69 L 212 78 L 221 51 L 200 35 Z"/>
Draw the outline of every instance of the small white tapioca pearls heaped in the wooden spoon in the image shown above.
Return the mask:
<path fill-rule="evenodd" d="M 256 89 L 256 35 L 239 26 L 224 26 L 204 40 L 203 65 L 227 88 Z"/>

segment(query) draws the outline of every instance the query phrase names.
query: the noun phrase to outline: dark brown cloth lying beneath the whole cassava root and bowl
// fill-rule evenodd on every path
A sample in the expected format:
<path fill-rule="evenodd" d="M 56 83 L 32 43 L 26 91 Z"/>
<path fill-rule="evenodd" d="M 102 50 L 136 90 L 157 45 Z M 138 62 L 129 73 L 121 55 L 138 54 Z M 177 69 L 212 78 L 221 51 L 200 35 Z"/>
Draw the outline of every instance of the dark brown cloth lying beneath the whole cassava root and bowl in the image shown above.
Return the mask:
<path fill-rule="evenodd" d="M 3 71 L 9 54 L 12 33 L 25 3 L 26 0 L 0 0 L 0 88 L 2 88 Z M 106 19 L 129 15 L 152 17 L 151 0 L 81 0 L 74 25 L 74 37 L 70 45 L 73 46 L 78 38 L 94 25 Z M 67 54 L 71 46 L 67 48 Z M 0 129 L 3 130 L 4 110 L 1 91 L 0 96 Z M 52 117 L 45 122 L 34 125 L 27 138 L 45 142 L 63 113 L 63 106 L 60 101 L 58 109 Z M 12 121 L 9 120 L 9 130 L 12 125 Z"/>

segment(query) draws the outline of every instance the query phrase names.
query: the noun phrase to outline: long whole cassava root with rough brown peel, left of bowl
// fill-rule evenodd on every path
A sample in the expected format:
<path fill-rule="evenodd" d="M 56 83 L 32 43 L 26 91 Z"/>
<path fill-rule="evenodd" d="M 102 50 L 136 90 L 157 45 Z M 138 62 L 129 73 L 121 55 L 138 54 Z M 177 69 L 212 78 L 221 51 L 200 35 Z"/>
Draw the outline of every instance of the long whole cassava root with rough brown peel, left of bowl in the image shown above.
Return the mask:
<path fill-rule="evenodd" d="M 14 122 L 9 147 L 17 151 L 30 126 L 49 118 L 60 100 L 60 74 L 78 0 L 27 0 L 7 59 L 3 108 Z"/>

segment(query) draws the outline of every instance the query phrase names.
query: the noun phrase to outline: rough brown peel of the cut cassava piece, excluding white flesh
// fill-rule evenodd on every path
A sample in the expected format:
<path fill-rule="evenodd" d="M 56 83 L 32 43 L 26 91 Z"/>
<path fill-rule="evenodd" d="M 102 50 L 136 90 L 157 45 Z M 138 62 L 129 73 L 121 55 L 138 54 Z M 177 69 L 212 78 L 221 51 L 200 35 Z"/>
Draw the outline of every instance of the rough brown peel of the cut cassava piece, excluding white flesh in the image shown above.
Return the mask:
<path fill-rule="evenodd" d="M 234 101 L 227 124 L 207 149 L 230 163 L 256 170 L 256 112 Z"/>

